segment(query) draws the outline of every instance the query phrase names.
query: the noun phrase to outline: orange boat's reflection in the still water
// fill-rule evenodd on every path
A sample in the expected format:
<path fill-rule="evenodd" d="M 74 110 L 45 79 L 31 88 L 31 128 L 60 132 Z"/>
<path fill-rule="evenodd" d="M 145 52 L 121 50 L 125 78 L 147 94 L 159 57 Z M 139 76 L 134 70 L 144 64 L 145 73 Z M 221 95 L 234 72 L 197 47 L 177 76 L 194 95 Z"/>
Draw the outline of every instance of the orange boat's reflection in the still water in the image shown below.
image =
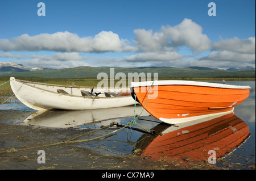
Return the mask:
<path fill-rule="evenodd" d="M 136 148 L 143 150 L 141 155 L 156 159 L 202 161 L 210 156 L 209 150 L 215 150 L 219 158 L 250 136 L 248 125 L 234 113 L 188 126 L 161 123 L 153 129 L 158 134 L 143 134 Z"/>

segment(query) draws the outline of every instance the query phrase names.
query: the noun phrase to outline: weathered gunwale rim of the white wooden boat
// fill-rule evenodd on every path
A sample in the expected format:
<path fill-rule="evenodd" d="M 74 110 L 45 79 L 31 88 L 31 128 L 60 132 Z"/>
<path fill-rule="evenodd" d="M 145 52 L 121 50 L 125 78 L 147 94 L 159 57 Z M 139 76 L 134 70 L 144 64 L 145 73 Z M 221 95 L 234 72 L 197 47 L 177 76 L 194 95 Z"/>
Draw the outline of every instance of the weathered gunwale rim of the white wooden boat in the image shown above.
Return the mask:
<path fill-rule="evenodd" d="M 53 94 L 57 94 L 57 95 L 64 95 L 64 96 L 72 96 L 72 97 L 77 97 L 77 98 L 84 98 L 84 99 L 119 99 L 119 98 L 125 98 L 125 97 L 129 97 L 129 95 L 125 95 L 125 96 L 112 96 L 112 97 L 99 97 L 99 96 L 82 96 L 82 95 L 71 95 L 71 94 L 63 94 L 61 92 L 54 92 L 54 91 L 50 91 L 50 90 L 46 90 L 46 89 L 42 89 L 40 87 L 35 87 L 30 85 L 29 83 L 34 83 L 34 84 L 39 84 L 39 85 L 51 85 L 51 86 L 59 86 L 59 87 L 68 87 L 68 86 L 63 86 L 63 85 L 54 85 L 54 84 L 48 84 L 48 83 L 40 83 L 40 82 L 31 82 L 31 81 L 23 81 L 20 79 L 13 79 L 13 81 L 22 83 L 23 85 L 32 87 L 34 89 L 39 89 L 39 90 L 43 90 L 46 92 L 51 92 Z M 72 87 L 70 86 L 70 88 L 81 88 L 81 87 Z M 82 87 L 82 88 L 92 88 L 92 87 Z"/>

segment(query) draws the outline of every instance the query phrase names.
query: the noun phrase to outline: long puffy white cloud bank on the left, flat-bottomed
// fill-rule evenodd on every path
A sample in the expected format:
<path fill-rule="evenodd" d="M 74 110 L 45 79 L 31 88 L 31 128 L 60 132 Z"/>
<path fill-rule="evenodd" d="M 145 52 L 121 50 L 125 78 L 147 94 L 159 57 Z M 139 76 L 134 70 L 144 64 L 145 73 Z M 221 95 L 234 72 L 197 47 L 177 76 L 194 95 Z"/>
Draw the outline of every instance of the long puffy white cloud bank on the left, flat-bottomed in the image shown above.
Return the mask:
<path fill-rule="evenodd" d="M 42 33 L 36 36 L 27 34 L 11 40 L 0 39 L 0 49 L 4 51 L 38 51 L 56 52 L 122 52 L 134 50 L 127 40 L 120 40 L 112 31 L 102 31 L 94 37 L 79 37 L 68 31 Z"/>

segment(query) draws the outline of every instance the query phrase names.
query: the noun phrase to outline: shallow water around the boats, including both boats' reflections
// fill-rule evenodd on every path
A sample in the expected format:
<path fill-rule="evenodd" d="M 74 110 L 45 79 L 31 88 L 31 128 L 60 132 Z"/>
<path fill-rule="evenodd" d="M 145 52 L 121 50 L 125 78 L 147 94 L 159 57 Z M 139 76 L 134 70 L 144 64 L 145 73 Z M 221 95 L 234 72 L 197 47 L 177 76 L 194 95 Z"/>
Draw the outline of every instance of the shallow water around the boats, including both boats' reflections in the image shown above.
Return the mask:
<path fill-rule="evenodd" d="M 218 161 L 216 163 L 217 167 L 224 168 L 227 167 L 228 169 L 251 169 L 255 168 L 255 82 L 226 82 L 226 84 L 230 85 L 249 85 L 251 87 L 250 89 L 250 95 L 249 98 L 245 100 L 242 104 L 236 106 L 234 108 L 234 115 L 236 117 L 232 117 L 232 119 L 239 121 L 239 123 L 243 124 L 246 123 L 249 127 L 249 133 L 250 136 L 246 137 L 245 140 L 242 140 L 242 142 L 238 142 L 237 144 L 233 144 L 233 148 L 230 149 L 230 145 L 232 143 L 228 142 L 224 145 L 225 149 L 229 148 L 228 153 L 225 153 L 225 155 L 221 155 L 222 161 Z M 6 100 L 7 97 L 0 97 L 0 101 Z M 143 157 L 154 157 L 152 155 L 158 155 L 158 158 L 162 159 L 168 159 L 168 158 L 180 158 L 180 155 L 183 155 L 183 160 L 188 159 L 199 159 L 194 158 L 193 154 L 200 153 L 202 151 L 199 151 L 198 144 L 201 144 L 201 149 L 205 150 L 204 148 L 207 148 L 205 146 L 209 145 L 209 142 L 213 140 L 213 138 L 216 138 L 219 136 L 218 140 L 223 140 L 221 137 L 221 134 L 219 135 L 219 132 L 214 132 L 212 134 L 212 137 L 203 137 L 200 138 L 200 140 L 204 140 L 204 142 L 195 141 L 192 140 L 192 137 L 195 137 L 195 135 L 199 134 L 199 131 L 195 129 L 195 125 L 179 125 L 177 126 L 168 126 L 164 124 L 160 124 L 161 121 L 155 119 L 154 117 L 150 116 L 145 110 L 143 110 L 141 106 L 136 107 L 136 114 L 139 115 L 141 112 L 141 116 L 138 117 L 137 123 L 141 125 L 143 128 L 151 129 L 158 125 L 158 127 L 161 127 L 161 130 L 159 132 L 163 133 L 162 137 L 171 135 L 171 133 L 177 133 L 179 136 L 181 134 L 184 134 L 184 136 L 188 136 L 183 141 L 176 141 L 174 138 L 172 138 L 171 144 L 177 144 L 177 148 L 170 150 L 158 150 L 159 153 L 162 153 L 162 155 L 158 155 L 158 153 L 154 152 L 154 146 L 147 152 L 144 152 L 142 154 Z M 61 129 L 82 129 L 87 131 L 92 131 L 95 129 L 100 128 L 102 125 L 109 125 L 110 123 L 113 123 L 113 121 L 126 125 L 129 121 L 133 120 L 134 117 L 134 106 L 130 107 L 123 107 L 123 108 L 110 108 L 105 110 L 90 110 L 90 111 L 35 111 L 31 110 L 30 108 L 24 106 L 22 103 L 19 102 L 15 97 L 11 98 L 6 104 L 3 104 L 0 106 L 0 122 L 2 123 L 8 123 L 8 124 L 19 124 L 19 125 L 32 125 L 33 127 L 39 126 L 39 127 L 46 127 L 46 128 L 61 128 Z M 199 127 L 199 125 L 204 125 L 205 121 L 203 123 L 197 123 L 196 128 Z M 212 120 L 207 120 L 207 123 L 210 123 Z M 214 120 L 213 120 L 214 121 Z M 215 120 L 216 121 L 216 120 Z M 218 121 L 226 121 L 226 118 L 223 120 Z M 221 122 L 222 123 L 222 122 Z M 226 124 L 226 122 L 225 122 Z M 224 122 L 223 124 L 224 125 Z M 133 127 L 138 127 L 138 125 L 133 125 Z M 164 128 L 163 128 L 164 127 Z M 209 130 L 205 130 L 205 132 L 210 132 L 213 129 L 216 129 L 213 125 L 210 125 L 212 127 Z M 232 128 L 232 126 L 224 127 L 220 129 L 227 130 L 228 128 Z M 93 138 L 97 136 L 101 136 L 103 134 L 111 133 L 110 135 L 106 137 L 102 137 L 97 140 L 92 140 L 89 142 L 80 142 L 76 143 L 76 146 L 84 147 L 84 148 L 93 148 L 98 151 L 100 154 L 108 154 L 108 155 L 130 155 L 133 153 L 134 150 L 137 149 L 146 149 L 150 148 L 152 146 L 151 144 L 155 144 L 154 141 L 156 140 L 156 137 L 148 137 L 147 133 L 139 132 L 131 129 L 121 129 L 118 132 L 113 132 L 120 127 L 117 128 L 108 128 L 103 129 L 102 131 L 98 131 L 93 133 L 90 136 L 84 136 L 83 138 Z M 171 133 L 167 133 L 168 129 L 171 129 Z M 184 130 L 181 130 L 181 128 L 184 128 Z M 192 133 L 194 130 L 195 133 Z M 238 139 L 238 131 L 236 130 L 235 126 L 232 128 L 233 132 L 228 134 L 230 138 Z M 234 131 L 236 130 L 236 131 Z M 224 132 L 222 131 L 222 132 Z M 113 133 L 112 133 L 113 132 Z M 205 133 L 204 132 L 204 133 Z M 187 133 L 187 134 L 186 134 Z M 188 134 L 189 133 L 189 134 Z M 200 133 L 202 135 L 202 133 Z M 168 139 L 171 136 L 167 137 Z M 198 137 L 198 136 L 196 136 Z M 146 146 L 145 144 L 142 144 L 142 140 L 146 139 Z M 207 140 L 208 139 L 208 140 Z M 191 142 L 188 142 L 191 140 Z M 149 145 L 148 145 L 149 144 Z M 204 144 L 202 146 L 202 144 Z M 215 144 L 215 145 L 214 145 Z M 217 144 L 217 145 L 216 145 Z M 220 148 L 222 142 L 214 141 L 212 145 L 214 145 L 214 149 L 216 149 L 217 154 L 221 154 Z M 194 146 L 197 146 L 196 148 Z M 161 146 L 161 145 L 160 145 Z M 158 148 L 160 148 L 158 146 Z M 165 146 L 171 146 L 171 145 L 165 145 Z M 172 145 L 173 146 L 173 145 Z M 187 147 L 186 147 L 187 146 Z M 237 147 L 238 146 L 238 147 Z M 223 149 L 224 149 L 223 148 Z M 182 150 L 184 149 L 184 150 Z M 222 148 L 221 148 L 222 149 Z M 173 154 L 172 152 L 175 152 L 178 150 L 178 153 Z M 197 152 L 195 152 L 195 150 Z M 179 153 L 180 151 L 180 153 Z M 207 151 L 207 150 L 205 150 Z M 193 154 L 192 154 L 193 153 Z M 209 155 L 208 155 L 209 156 Z M 201 159 L 205 159 L 207 157 L 204 154 Z"/>

